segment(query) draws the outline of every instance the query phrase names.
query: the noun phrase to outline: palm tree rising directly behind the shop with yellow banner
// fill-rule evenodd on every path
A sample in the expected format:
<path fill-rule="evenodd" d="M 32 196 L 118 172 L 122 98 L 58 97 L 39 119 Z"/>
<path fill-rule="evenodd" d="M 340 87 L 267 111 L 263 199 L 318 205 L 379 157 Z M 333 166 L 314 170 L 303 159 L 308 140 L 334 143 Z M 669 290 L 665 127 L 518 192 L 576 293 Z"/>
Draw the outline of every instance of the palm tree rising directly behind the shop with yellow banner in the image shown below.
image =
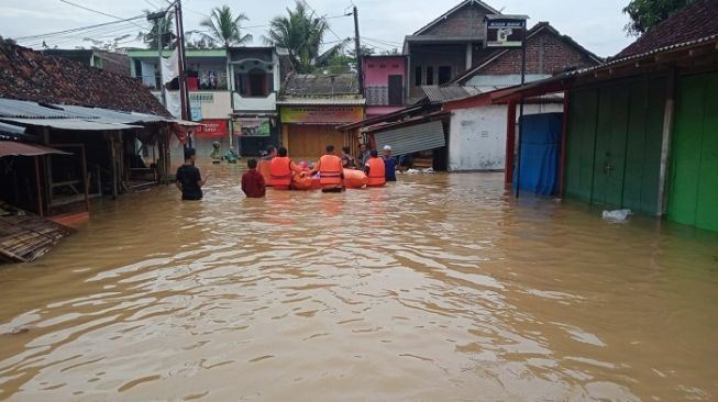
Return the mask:
<path fill-rule="evenodd" d="M 327 20 L 313 16 L 302 1 L 297 0 L 295 10 L 287 9 L 286 16 L 269 21 L 265 41 L 285 47 L 299 72 L 311 72 L 320 57 L 324 34 L 329 30 Z M 334 46 L 336 47 L 336 46 Z"/>

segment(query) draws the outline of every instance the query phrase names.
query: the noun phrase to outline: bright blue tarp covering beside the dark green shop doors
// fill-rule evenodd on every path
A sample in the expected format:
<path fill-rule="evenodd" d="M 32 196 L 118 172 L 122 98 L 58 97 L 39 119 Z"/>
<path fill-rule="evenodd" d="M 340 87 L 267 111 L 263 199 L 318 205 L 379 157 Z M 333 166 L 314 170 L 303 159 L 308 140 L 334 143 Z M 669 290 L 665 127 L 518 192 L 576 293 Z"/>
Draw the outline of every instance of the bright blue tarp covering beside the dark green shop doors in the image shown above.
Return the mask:
<path fill-rule="evenodd" d="M 521 132 L 520 176 L 513 170 L 513 186 L 541 196 L 557 192 L 563 113 L 523 116 Z M 517 161 L 519 163 L 519 161 Z"/>

